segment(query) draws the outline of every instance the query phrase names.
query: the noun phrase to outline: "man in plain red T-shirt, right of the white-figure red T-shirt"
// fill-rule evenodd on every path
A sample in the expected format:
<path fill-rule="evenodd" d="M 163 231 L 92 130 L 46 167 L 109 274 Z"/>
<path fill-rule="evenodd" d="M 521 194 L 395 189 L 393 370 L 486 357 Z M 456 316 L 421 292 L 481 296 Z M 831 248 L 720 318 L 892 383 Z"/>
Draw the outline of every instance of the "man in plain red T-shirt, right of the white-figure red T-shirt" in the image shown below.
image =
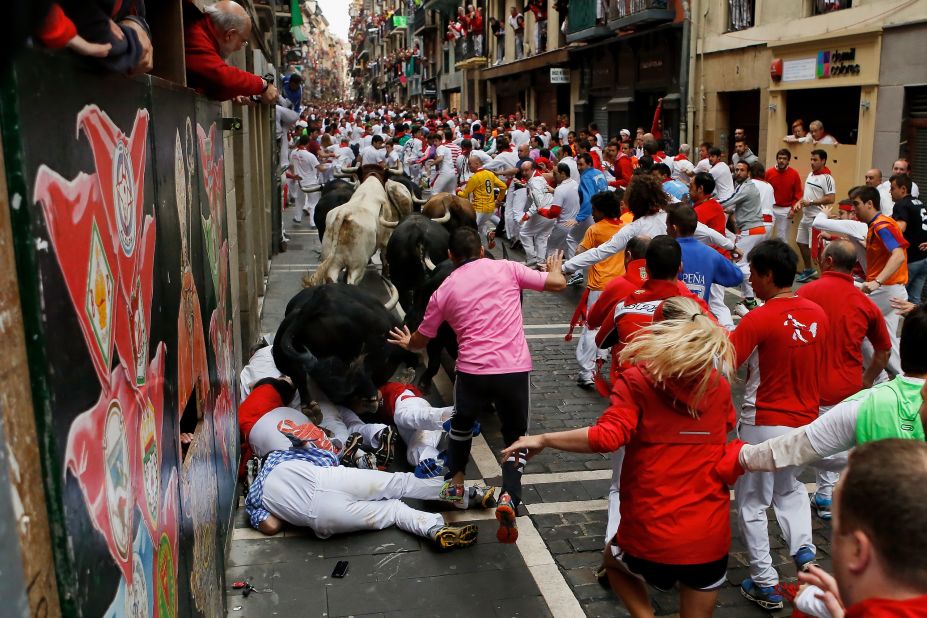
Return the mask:
<path fill-rule="evenodd" d="M 821 256 L 821 278 L 799 288 L 797 295 L 817 303 L 831 321 L 827 337 L 829 370 L 821 379 L 820 414 L 863 388 L 870 388 L 888 363 L 892 340 L 882 312 L 856 289 L 850 274 L 856 266 L 856 249 L 848 240 L 834 240 Z M 875 350 L 863 371 L 863 341 Z M 831 494 L 838 476 L 818 472 L 812 503 L 821 519 L 830 519 Z"/>

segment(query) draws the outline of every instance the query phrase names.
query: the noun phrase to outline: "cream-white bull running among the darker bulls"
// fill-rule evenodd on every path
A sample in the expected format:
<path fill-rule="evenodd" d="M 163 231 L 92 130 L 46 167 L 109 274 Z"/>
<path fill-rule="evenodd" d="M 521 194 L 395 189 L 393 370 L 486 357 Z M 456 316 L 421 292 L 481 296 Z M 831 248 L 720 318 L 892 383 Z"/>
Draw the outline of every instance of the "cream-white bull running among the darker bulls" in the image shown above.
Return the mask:
<path fill-rule="evenodd" d="M 377 176 L 368 176 L 350 200 L 326 216 L 322 263 L 303 278 L 303 285 L 338 281 L 342 271 L 347 271 L 349 284 L 357 285 L 370 258 L 377 251 L 385 254 L 393 228 L 411 212 L 412 194 L 404 185 L 392 180 L 384 184 Z M 387 285 L 395 295 L 395 288 Z"/>

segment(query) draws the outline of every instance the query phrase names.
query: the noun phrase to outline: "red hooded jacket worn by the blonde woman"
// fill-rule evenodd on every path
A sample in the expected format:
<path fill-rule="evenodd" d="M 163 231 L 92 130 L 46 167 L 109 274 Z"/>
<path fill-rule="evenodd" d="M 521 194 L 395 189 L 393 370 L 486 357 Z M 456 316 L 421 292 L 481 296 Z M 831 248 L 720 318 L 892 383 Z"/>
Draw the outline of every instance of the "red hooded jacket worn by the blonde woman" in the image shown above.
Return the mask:
<path fill-rule="evenodd" d="M 716 377 L 693 418 L 688 403 L 694 386 L 655 384 L 639 366 L 630 367 L 589 428 L 593 451 L 626 446 L 617 542 L 632 556 L 703 564 L 728 553 L 730 494 L 713 470 L 734 427 L 734 407 L 730 385 Z"/>

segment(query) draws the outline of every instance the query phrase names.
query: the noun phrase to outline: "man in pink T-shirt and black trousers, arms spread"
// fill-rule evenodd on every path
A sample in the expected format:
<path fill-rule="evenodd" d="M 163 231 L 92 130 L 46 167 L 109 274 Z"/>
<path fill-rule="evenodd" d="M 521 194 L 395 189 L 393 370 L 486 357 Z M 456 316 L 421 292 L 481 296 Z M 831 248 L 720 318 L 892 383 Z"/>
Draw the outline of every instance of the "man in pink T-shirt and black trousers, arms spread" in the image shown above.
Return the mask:
<path fill-rule="evenodd" d="M 538 272 L 508 260 L 483 259 L 480 236 L 471 228 L 457 229 L 448 247 L 454 272 L 432 294 L 418 330 L 393 329 L 389 341 L 417 351 L 425 348 L 442 322 L 457 333 L 455 413 L 441 490 L 443 499 L 456 502 L 463 499 L 473 423 L 489 404 L 502 421 L 506 446 L 528 431 L 531 353 L 525 339 L 521 291 L 559 292 L 566 287 L 566 278 L 559 251 L 547 258 L 547 272 Z M 525 456 L 519 451 L 502 464 L 502 494 L 496 507 L 496 538 L 501 543 L 514 543 L 518 538 L 515 510 L 521 501 Z"/>

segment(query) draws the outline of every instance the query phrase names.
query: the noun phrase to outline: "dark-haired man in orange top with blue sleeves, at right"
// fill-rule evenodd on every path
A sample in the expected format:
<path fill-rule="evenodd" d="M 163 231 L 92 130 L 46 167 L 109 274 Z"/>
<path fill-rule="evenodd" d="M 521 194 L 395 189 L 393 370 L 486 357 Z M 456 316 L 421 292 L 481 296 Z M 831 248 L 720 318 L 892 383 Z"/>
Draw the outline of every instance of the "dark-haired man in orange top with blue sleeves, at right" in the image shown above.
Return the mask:
<path fill-rule="evenodd" d="M 888 369 L 897 375 L 900 370 L 898 359 L 898 311 L 892 307 L 892 298 L 904 298 L 908 291 L 908 241 L 901 233 L 898 223 L 882 214 L 879 192 L 872 187 L 850 189 L 856 218 L 866 223 L 866 281 L 860 288 L 882 311 L 888 335 L 892 339 L 892 354 Z"/>

